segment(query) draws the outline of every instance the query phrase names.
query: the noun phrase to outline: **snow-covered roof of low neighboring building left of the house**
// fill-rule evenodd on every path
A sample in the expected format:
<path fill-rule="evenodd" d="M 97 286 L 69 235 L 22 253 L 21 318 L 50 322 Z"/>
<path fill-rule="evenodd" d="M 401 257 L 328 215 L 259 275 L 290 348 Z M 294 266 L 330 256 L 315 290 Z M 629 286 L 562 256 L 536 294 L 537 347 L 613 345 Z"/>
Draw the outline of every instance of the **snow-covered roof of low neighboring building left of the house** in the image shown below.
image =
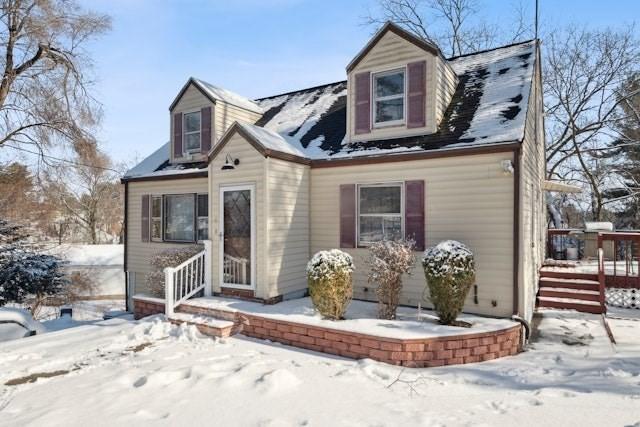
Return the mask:
<path fill-rule="evenodd" d="M 69 266 L 118 266 L 124 264 L 124 245 L 64 244 L 49 251 Z"/>

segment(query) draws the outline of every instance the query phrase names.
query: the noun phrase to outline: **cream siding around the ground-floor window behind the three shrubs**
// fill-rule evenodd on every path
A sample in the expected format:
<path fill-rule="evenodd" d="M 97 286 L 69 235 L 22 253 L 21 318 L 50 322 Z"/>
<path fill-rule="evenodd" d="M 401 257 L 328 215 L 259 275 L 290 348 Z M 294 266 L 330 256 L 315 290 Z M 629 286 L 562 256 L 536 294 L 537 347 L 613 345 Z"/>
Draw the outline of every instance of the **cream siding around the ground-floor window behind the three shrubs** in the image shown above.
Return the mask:
<path fill-rule="evenodd" d="M 508 316 L 513 308 L 513 176 L 502 160 L 513 153 L 448 157 L 311 169 L 311 254 L 339 245 L 339 186 L 425 180 L 426 245 L 456 239 L 476 256 L 478 304 L 470 293 L 465 311 Z M 366 249 L 345 249 L 355 257 L 355 297 L 375 300 L 367 283 Z M 368 288 L 368 290 L 365 290 Z M 425 279 L 418 260 L 404 279 L 401 302 L 417 305 Z M 494 307 L 495 303 L 495 307 Z M 423 306 L 429 304 L 423 303 Z"/>

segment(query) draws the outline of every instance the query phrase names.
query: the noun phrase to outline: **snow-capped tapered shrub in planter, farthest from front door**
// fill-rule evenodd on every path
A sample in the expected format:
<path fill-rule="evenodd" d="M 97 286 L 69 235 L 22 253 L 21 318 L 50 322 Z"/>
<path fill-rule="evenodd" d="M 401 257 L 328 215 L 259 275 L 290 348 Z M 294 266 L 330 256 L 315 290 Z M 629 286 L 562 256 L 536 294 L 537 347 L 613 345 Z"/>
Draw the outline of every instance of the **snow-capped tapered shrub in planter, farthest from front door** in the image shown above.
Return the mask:
<path fill-rule="evenodd" d="M 460 242 L 446 240 L 424 252 L 422 266 L 440 323 L 453 324 L 476 280 L 473 252 Z"/>

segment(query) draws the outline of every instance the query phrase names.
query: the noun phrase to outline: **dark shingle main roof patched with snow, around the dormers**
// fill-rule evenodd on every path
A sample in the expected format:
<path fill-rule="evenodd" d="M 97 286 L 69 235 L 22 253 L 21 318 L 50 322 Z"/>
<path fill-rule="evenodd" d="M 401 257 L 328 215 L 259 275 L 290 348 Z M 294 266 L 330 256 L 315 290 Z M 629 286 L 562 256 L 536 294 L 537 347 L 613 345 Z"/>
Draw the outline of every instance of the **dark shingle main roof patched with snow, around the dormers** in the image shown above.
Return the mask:
<path fill-rule="evenodd" d="M 265 148 L 309 160 L 330 160 L 522 141 L 535 52 L 532 40 L 450 58 L 447 61 L 458 76 L 458 86 L 435 133 L 352 143 L 345 138 L 346 81 L 248 101 L 192 80 L 216 99 L 232 104 L 244 99 L 261 111 L 255 125 L 239 124 Z M 169 147 L 164 145 L 127 172 L 125 179 L 204 172 L 205 167 L 203 163 L 169 165 Z"/>

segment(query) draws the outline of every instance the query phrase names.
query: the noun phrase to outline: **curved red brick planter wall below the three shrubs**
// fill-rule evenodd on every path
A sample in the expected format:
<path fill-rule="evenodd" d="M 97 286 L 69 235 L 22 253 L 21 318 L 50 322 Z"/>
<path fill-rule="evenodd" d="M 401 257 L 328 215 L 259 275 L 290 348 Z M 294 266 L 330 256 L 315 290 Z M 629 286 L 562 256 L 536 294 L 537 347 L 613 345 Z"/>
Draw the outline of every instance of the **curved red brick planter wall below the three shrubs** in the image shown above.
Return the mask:
<path fill-rule="evenodd" d="M 242 333 L 282 344 L 409 367 L 482 362 L 520 352 L 521 326 L 450 337 L 392 339 L 238 314 Z"/>

